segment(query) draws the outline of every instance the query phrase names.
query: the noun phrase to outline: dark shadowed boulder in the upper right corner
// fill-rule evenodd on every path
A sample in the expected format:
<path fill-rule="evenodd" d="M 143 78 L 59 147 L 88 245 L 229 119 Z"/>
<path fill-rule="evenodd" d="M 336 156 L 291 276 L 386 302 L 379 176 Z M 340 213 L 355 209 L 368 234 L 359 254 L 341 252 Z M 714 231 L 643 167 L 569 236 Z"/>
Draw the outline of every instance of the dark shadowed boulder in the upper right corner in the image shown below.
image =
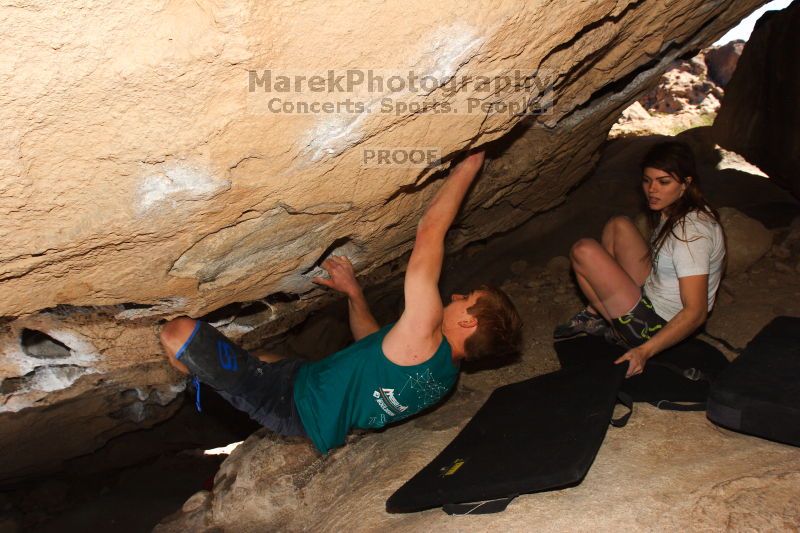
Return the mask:
<path fill-rule="evenodd" d="M 717 142 L 800 198 L 800 2 L 768 11 L 753 34 L 714 123 Z"/>

